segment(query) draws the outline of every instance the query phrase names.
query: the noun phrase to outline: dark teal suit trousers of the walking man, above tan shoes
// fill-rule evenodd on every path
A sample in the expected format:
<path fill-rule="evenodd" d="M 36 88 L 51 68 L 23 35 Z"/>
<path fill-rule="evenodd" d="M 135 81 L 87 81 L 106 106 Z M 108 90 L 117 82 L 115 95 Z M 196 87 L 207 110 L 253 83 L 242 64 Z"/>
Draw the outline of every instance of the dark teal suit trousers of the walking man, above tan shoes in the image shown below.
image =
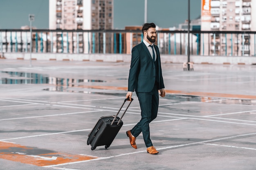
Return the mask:
<path fill-rule="evenodd" d="M 149 93 L 136 92 L 141 108 L 141 120 L 132 128 L 131 133 L 134 137 L 142 132 L 146 147 L 153 146 L 150 139 L 149 123 L 157 117 L 159 93 L 157 84 Z"/>

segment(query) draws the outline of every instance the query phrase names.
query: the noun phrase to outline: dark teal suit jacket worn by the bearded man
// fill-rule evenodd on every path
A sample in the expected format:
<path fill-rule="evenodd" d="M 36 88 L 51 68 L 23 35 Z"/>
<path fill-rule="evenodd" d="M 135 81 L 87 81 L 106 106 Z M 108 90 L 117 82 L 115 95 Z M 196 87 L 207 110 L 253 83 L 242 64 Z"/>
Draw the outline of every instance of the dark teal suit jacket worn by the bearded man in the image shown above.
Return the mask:
<path fill-rule="evenodd" d="M 161 60 L 159 49 L 154 45 L 157 60 L 159 85 L 158 88 L 164 88 L 164 80 L 162 76 Z M 155 85 L 155 64 L 144 42 L 132 48 L 132 60 L 128 78 L 128 91 L 136 91 L 149 93 Z"/>

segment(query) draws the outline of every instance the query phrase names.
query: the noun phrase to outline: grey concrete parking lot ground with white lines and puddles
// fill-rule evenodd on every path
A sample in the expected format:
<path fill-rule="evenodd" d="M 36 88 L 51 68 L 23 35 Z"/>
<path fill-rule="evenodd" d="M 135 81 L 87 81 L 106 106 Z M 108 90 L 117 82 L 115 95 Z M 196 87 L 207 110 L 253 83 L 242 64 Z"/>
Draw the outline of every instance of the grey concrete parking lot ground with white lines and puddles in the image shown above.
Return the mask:
<path fill-rule="evenodd" d="M 138 149 L 126 131 L 139 102 L 124 115 L 112 145 L 87 145 L 101 116 L 126 96 L 130 63 L 0 60 L 0 170 L 256 170 L 256 66 L 163 63 L 150 135 L 158 155 Z"/>

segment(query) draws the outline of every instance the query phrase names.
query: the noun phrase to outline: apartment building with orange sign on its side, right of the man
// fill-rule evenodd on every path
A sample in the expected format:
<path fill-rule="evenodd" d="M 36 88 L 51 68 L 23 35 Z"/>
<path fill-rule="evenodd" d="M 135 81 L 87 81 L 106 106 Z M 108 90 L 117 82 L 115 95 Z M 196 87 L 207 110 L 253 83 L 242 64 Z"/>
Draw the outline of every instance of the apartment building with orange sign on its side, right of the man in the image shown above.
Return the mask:
<path fill-rule="evenodd" d="M 255 34 L 247 33 L 256 31 L 255 0 L 202 0 L 201 4 L 202 31 L 234 31 L 229 34 L 201 35 L 201 54 L 227 56 L 255 54 Z"/>

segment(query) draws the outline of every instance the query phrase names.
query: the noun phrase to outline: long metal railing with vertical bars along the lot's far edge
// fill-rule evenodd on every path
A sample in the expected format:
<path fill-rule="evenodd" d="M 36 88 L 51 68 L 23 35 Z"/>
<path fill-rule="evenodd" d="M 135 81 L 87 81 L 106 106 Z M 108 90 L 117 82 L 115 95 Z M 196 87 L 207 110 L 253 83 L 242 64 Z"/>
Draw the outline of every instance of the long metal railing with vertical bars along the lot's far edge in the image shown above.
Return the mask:
<path fill-rule="evenodd" d="M 0 29 L 0 53 L 130 54 L 140 30 Z M 187 55 L 187 31 L 157 31 L 160 53 Z M 256 56 L 256 31 L 190 31 L 191 55 Z"/>

